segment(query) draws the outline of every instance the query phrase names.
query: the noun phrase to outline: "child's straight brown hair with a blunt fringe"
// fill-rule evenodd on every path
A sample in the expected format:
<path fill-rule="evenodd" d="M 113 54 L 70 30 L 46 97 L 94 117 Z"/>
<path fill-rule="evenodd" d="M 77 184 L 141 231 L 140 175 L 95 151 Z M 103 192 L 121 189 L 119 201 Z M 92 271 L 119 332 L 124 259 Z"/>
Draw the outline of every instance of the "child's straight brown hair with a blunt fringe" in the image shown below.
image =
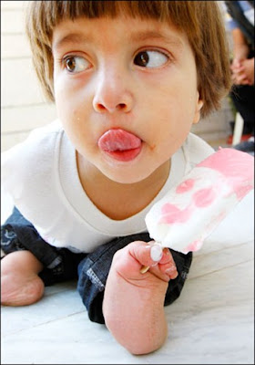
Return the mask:
<path fill-rule="evenodd" d="M 118 14 L 170 22 L 187 34 L 196 59 L 201 116 L 218 110 L 230 90 L 229 49 L 216 1 L 30 1 L 26 12 L 36 74 L 54 101 L 51 40 L 54 27 L 63 19 L 79 16 L 115 17 Z"/>

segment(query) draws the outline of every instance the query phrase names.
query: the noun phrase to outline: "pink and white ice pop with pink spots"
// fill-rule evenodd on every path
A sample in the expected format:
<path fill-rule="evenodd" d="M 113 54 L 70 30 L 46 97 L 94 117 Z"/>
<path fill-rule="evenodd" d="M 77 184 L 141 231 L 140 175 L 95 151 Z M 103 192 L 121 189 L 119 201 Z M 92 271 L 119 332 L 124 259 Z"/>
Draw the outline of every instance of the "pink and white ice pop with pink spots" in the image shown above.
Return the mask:
<path fill-rule="evenodd" d="M 254 189 L 254 157 L 222 148 L 196 165 L 152 206 L 145 221 L 152 239 L 187 254 Z"/>

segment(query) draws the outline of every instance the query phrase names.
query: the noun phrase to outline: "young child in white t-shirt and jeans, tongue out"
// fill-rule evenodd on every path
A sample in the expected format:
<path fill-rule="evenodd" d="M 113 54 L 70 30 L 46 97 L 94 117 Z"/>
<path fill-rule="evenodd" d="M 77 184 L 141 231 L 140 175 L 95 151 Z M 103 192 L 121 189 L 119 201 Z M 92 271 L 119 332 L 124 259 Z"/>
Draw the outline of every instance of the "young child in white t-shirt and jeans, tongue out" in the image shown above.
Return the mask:
<path fill-rule="evenodd" d="M 189 130 L 230 89 L 217 2 L 29 3 L 36 73 L 58 120 L 2 156 L 15 205 L 2 226 L 2 304 L 32 304 L 77 277 L 89 318 L 148 353 L 167 337 L 164 305 L 192 256 L 158 252 L 144 218 L 213 152 Z"/>

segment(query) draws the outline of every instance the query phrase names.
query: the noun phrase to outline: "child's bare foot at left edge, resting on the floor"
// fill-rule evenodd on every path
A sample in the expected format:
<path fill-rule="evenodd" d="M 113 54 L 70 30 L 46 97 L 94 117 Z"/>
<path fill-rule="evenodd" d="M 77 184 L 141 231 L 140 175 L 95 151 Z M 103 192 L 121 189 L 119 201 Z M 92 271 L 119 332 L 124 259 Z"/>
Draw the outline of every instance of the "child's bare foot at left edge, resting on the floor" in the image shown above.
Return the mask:
<path fill-rule="evenodd" d="M 17 251 L 1 261 L 1 304 L 26 306 L 44 294 L 44 283 L 37 273 L 42 264 L 29 251 Z"/>

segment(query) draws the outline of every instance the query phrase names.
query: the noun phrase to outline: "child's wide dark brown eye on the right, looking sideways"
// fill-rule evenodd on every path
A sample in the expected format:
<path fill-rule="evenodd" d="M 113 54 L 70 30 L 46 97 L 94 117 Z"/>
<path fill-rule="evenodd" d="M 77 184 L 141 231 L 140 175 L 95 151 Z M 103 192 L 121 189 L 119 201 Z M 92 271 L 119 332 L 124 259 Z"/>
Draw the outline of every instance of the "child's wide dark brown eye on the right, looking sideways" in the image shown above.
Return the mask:
<path fill-rule="evenodd" d="M 168 62 L 168 56 L 159 51 L 141 51 L 134 59 L 135 65 L 142 68 L 160 68 Z"/>

